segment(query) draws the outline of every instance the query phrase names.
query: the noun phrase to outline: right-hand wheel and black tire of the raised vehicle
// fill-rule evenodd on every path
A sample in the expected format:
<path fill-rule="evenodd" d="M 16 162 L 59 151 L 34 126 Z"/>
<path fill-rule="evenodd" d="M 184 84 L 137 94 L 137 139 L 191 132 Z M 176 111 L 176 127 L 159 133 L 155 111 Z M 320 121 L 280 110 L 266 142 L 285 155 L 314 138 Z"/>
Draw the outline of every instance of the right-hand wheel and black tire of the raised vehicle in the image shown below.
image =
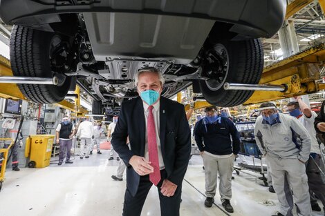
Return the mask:
<path fill-rule="evenodd" d="M 263 47 L 259 39 L 219 41 L 206 54 L 200 81 L 205 99 L 215 106 L 237 106 L 252 90 L 224 90 L 223 84 L 258 84 L 263 72 Z"/>

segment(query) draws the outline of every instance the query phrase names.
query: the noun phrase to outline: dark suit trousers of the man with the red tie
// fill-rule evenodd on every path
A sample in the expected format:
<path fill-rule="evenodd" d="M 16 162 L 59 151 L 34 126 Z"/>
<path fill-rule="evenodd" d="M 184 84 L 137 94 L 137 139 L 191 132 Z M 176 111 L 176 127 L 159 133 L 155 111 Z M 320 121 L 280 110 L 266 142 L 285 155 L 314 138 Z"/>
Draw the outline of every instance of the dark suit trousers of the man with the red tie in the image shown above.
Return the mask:
<path fill-rule="evenodd" d="M 178 185 L 174 196 L 165 197 L 160 192 L 160 187 L 163 184 L 163 179 L 166 178 L 166 171 L 160 170 L 162 179 L 157 185 L 159 200 L 160 200 L 160 214 L 161 216 L 179 216 L 180 208 L 180 195 L 182 193 L 182 186 Z M 123 216 L 140 216 L 143 204 L 145 204 L 145 199 L 149 193 L 152 186 L 149 180 L 149 175 L 141 176 L 138 191 L 134 197 L 132 197 L 128 188 L 125 190 L 124 196 L 124 206 L 123 206 Z M 154 215 L 158 216 L 157 213 Z"/>

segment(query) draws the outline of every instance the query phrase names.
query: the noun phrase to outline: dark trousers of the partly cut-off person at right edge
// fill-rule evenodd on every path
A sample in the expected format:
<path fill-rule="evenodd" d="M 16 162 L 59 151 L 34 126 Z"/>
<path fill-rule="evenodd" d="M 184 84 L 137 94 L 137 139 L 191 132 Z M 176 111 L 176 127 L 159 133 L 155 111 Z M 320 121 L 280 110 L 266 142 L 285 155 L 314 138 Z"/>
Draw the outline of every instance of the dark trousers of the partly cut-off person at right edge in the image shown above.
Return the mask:
<path fill-rule="evenodd" d="M 317 195 L 317 197 L 322 202 L 325 207 L 325 184 L 322 181 L 321 173 L 319 171 L 319 164 L 321 163 L 321 158 L 316 155 L 315 158 L 309 157 L 306 166 L 306 173 L 308 176 L 308 186 L 309 189 Z M 318 167 L 317 167 L 318 166 Z M 317 199 L 310 199 L 311 204 L 317 203 Z M 325 208 L 324 208 L 325 209 Z"/>

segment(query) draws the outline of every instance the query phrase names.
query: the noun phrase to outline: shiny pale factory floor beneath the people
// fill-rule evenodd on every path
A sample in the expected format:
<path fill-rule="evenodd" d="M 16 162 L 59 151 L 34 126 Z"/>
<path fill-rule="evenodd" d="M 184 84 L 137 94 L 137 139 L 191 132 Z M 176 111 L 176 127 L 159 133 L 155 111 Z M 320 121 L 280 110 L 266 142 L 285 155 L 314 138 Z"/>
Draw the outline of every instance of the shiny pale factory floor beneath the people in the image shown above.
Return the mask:
<path fill-rule="evenodd" d="M 57 166 L 57 158 L 52 158 L 46 168 L 21 168 L 19 172 L 7 169 L 0 192 L 0 215 L 122 215 L 125 179 L 111 179 L 111 175 L 116 174 L 118 161 L 108 160 L 109 150 L 102 150 L 102 155 L 97 155 L 95 150 L 94 153 L 89 159 L 73 157 L 73 164 Z M 231 199 L 234 213 L 225 213 L 218 190 L 212 208 L 205 208 L 203 161 L 201 156 L 193 155 L 183 181 L 180 215 L 272 215 L 278 209 L 277 196 L 268 192 L 268 187 L 258 179 L 260 176 L 249 170 L 241 170 L 239 175 L 234 173 Z M 158 193 L 153 186 L 142 215 L 159 216 L 158 208 Z M 324 213 L 313 212 L 313 215 Z"/>

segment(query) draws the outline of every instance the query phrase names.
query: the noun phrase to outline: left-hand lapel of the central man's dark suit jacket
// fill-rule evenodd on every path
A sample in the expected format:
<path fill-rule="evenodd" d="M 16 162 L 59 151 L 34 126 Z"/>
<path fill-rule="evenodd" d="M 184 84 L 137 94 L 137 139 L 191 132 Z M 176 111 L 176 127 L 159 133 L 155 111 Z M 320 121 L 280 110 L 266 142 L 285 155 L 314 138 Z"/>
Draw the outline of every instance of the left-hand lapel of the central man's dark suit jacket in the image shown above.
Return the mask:
<path fill-rule="evenodd" d="M 136 115 L 133 116 L 133 121 L 137 122 L 137 126 L 139 127 L 140 133 L 140 153 L 141 156 L 145 156 L 145 133 L 146 133 L 146 124 L 145 124 L 145 112 L 143 110 L 142 99 L 138 97 L 138 101 L 136 103 L 135 112 Z"/>

